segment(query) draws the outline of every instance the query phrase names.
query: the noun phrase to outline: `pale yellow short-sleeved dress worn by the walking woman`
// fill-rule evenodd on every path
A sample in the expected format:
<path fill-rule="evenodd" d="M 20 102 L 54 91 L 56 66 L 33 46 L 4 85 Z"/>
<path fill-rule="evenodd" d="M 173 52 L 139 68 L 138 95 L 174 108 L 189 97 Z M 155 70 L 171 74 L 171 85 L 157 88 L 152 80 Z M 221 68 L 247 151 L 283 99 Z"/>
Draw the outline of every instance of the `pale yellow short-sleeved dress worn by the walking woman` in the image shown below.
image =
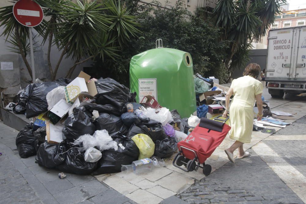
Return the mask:
<path fill-rule="evenodd" d="M 255 95 L 263 93 L 263 85 L 252 76 L 233 80 L 234 98 L 230 105 L 230 138 L 242 143 L 250 143 L 255 103 Z"/>

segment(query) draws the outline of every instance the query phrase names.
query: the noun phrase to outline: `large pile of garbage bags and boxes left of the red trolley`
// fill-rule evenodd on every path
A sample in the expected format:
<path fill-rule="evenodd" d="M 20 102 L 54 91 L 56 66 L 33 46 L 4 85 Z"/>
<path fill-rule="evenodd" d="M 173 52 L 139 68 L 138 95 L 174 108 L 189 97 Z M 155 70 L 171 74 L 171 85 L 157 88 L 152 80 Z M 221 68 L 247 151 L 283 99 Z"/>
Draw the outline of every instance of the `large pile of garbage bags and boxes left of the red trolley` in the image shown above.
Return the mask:
<path fill-rule="evenodd" d="M 17 135 L 19 155 L 68 173 L 115 173 L 133 161 L 169 158 L 190 129 L 176 110 L 136 103 L 124 85 L 84 72 L 30 84 L 19 98 L 13 111 L 34 119 Z"/>

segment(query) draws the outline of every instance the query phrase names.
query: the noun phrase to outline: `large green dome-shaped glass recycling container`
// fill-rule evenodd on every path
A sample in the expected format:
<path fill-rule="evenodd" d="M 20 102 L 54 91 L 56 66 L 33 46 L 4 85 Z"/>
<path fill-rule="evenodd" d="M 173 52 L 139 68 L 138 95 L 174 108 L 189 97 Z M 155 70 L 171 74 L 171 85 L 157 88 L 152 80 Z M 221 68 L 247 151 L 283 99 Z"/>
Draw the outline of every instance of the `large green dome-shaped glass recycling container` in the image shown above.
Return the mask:
<path fill-rule="evenodd" d="M 156 48 L 132 57 L 130 90 L 136 92 L 137 102 L 152 95 L 162 107 L 177 109 L 181 117 L 196 111 L 192 58 L 189 53 Z"/>

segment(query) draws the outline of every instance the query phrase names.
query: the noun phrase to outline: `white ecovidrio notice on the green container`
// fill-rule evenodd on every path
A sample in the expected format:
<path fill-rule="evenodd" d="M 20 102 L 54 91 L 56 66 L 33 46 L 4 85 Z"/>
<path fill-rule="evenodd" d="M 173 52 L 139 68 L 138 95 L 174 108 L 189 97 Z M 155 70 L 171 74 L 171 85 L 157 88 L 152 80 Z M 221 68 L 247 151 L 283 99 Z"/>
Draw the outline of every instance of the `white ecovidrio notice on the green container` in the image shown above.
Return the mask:
<path fill-rule="evenodd" d="M 138 80 L 139 101 L 144 96 L 150 95 L 157 99 L 157 80 L 156 79 L 139 79 Z"/>

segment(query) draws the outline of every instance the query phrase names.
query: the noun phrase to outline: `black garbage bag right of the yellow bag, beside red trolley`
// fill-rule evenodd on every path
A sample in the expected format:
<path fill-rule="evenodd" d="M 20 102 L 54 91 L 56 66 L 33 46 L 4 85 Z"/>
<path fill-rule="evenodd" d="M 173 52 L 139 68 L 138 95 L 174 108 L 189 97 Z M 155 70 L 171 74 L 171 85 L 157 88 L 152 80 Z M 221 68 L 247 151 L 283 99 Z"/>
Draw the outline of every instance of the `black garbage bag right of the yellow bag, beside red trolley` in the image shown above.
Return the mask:
<path fill-rule="evenodd" d="M 162 141 L 156 140 L 155 142 L 154 156 L 161 159 L 169 158 L 177 150 L 177 139 L 175 137 L 169 137 Z"/>

